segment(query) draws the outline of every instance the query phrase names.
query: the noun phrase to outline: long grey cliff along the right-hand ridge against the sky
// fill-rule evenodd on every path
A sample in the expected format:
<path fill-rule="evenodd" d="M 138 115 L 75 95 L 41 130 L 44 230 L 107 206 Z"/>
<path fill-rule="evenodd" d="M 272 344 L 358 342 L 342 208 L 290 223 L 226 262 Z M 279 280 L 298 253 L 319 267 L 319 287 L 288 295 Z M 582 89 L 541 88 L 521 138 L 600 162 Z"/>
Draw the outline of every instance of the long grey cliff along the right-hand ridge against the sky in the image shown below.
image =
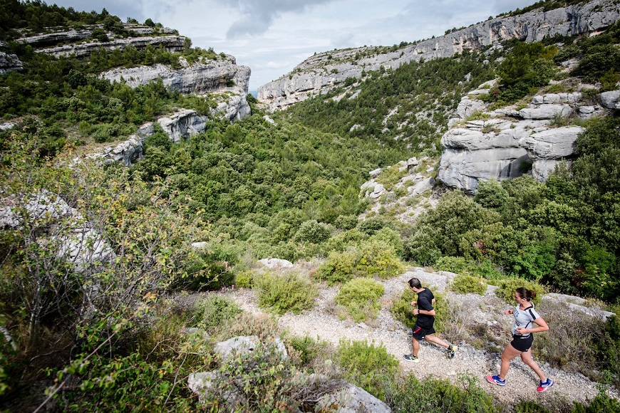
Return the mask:
<path fill-rule="evenodd" d="M 320 53 L 282 78 L 262 85 L 258 100 L 269 104 L 271 110 L 282 109 L 334 88 L 346 78 L 361 78 L 363 70 L 396 68 L 410 61 L 453 56 L 465 49 L 478 51 L 511 38 L 531 42 L 557 34 L 595 33 L 619 19 L 620 4 L 614 0 L 594 0 L 547 12 L 538 9 L 520 16 L 491 19 L 387 53 L 376 53 L 372 47 Z"/>

